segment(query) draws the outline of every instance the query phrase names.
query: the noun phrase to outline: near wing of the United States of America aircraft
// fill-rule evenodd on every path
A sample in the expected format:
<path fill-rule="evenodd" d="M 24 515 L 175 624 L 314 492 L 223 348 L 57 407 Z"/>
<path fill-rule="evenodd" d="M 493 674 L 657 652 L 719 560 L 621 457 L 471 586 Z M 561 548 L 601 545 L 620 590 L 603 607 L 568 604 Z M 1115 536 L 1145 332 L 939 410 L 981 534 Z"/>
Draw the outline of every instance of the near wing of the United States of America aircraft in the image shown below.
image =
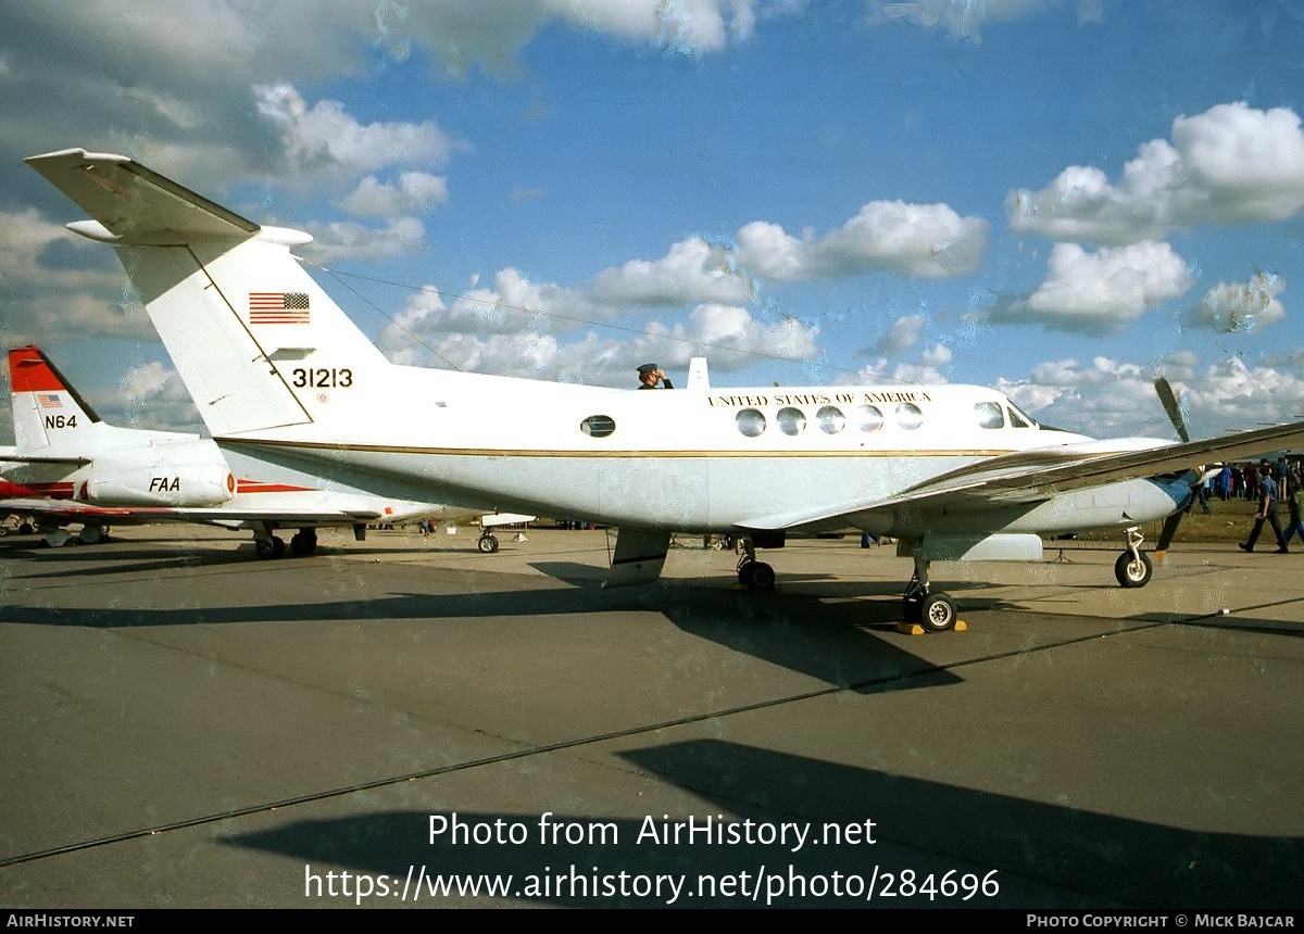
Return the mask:
<path fill-rule="evenodd" d="M 1112 451 L 1102 444 L 1115 444 Z M 1304 446 L 1304 422 L 1278 425 L 1183 444 L 1118 451 L 1116 442 L 1034 448 L 990 457 L 931 477 L 893 496 L 852 504 L 836 512 L 789 512 L 748 522 L 746 528 L 818 531 L 874 524 L 902 508 L 915 512 L 981 512 L 1011 505 L 1034 505 L 1060 492 L 1125 479 L 1189 470 L 1197 465 L 1239 460 Z"/>

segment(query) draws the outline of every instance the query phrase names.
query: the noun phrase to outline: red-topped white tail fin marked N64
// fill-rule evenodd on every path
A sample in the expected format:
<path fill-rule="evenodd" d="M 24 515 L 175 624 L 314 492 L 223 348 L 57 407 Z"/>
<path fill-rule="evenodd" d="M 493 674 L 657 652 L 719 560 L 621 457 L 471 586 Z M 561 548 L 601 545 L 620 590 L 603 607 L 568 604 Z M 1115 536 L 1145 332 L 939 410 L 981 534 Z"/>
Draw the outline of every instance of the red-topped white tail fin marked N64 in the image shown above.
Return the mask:
<path fill-rule="evenodd" d="M 9 352 L 13 434 L 20 455 L 57 455 L 87 447 L 106 426 L 35 347 Z"/>

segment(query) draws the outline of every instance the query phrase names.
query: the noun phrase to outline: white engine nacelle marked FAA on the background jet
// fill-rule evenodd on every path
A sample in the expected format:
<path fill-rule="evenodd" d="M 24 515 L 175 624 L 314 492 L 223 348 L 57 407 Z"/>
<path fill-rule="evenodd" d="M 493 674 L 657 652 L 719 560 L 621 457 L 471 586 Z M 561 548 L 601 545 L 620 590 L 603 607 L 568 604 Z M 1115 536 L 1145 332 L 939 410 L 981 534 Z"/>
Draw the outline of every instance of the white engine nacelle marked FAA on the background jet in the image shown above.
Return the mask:
<path fill-rule="evenodd" d="M 121 507 L 222 505 L 236 495 L 226 464 L 91 464 L 74 495 L 83 503 Z"/>

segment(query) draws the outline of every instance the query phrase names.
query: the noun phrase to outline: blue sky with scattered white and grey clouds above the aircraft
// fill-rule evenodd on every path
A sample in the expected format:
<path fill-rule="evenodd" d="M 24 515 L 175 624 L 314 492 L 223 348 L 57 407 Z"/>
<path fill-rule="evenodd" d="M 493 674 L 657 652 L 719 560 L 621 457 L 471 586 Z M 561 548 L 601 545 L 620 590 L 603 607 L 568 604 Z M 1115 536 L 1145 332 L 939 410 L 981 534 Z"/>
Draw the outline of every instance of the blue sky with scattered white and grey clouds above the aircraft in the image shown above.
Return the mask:
<path fill-rule="evenodd" d="M 0 10 L 0 335 L 121 423 L 197 417 L 22 156 L 308 229 L 403 362 L 979 383 L 1098 436 L 1171 434 L 1163 374 L 1196 434 L 1304 416 L 1292 0 Z"/>

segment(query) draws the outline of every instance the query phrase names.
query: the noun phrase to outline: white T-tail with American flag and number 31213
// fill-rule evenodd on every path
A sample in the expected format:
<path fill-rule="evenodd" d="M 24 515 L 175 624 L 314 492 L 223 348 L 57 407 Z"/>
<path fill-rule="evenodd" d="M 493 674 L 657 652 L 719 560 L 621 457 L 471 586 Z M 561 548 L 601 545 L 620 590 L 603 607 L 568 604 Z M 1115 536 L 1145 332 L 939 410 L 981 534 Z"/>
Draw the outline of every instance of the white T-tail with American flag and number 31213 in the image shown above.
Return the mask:
<path fill-rule="evenodd" d="M 390 366 L 291 255 L 308 234 L 259 227 L 126 156 L 27 163 L 94 218 L 69 229 L 117 248 L 214 436 L 330 421 Z"/>

